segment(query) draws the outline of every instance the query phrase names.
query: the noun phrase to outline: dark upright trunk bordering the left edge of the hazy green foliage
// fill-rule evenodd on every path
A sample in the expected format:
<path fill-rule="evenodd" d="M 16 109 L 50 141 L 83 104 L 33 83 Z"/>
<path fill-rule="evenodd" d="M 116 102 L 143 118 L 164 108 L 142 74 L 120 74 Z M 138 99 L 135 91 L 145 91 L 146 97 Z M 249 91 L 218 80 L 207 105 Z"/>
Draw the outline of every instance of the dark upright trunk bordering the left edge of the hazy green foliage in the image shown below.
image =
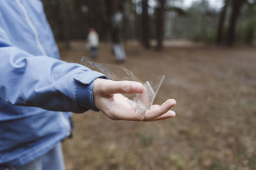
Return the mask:
<path fill-rule="evenodd" d="M 157 8 L 156 17 L 156 35 L 157 35 L 157 46 L 156 50 L 163 50 L 163 39 L 164 39 L 164 5 L 166 0 L 158 0 L 159 8 Z"/>

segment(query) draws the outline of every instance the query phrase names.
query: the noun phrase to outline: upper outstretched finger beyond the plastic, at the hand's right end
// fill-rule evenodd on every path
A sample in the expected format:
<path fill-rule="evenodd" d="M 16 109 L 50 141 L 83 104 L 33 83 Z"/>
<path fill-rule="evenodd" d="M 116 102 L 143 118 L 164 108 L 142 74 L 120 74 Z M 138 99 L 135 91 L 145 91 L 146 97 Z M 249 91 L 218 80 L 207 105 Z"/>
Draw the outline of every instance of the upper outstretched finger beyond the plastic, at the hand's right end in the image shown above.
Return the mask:
<path fill-rule="evenodd" d="M 145 120 L 154 120 L 155 118 L 160 117 L 164 113 L 167 113 L 175 104 L 176 101 L 174 99 L 168 99 L 161 106 L 151 107 L 150 110 L 145 113 Z"/>

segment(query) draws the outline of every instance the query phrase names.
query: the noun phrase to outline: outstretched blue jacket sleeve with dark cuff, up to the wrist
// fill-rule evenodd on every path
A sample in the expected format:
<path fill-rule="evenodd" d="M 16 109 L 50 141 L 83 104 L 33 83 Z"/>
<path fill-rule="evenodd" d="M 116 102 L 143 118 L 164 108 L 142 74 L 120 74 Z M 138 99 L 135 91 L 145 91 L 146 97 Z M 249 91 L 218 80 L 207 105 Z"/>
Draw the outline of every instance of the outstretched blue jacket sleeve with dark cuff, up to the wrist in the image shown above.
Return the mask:
<path fill-rule="evenodd" d="M 82 113 L 97 110 L 93 80 L 106 78 L 80 64 L 34 56 L 8 41 L 0 27 L 0 100 L 19 106 Z"/>

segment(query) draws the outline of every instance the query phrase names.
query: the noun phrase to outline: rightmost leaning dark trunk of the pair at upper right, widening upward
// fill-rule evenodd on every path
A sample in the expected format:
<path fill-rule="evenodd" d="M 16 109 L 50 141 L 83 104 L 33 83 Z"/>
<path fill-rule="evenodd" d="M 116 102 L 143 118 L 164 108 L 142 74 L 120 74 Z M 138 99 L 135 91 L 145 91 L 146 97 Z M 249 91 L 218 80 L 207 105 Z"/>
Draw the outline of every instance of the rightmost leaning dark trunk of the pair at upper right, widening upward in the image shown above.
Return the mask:
<path fill-rule="evenodd" d="M 236 24 L 239 17 L 241 7 L 245 0 L 233 0 L 232 1 L 232 13 L 230 17 L 230 23 L 228 27 L 228 39 L 227 45 L 232 46 L 236 41 Z"/>

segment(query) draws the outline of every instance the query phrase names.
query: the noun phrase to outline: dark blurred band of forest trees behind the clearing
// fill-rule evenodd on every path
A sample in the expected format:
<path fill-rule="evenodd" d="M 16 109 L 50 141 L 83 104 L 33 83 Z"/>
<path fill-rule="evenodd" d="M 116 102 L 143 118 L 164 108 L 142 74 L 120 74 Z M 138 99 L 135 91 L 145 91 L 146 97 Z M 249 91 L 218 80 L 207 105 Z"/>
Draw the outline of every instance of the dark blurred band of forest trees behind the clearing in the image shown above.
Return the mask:
<path fill-rule="evenodd" d="M 168 39 L 188 39 L 218 45 L 255 45 L 256 1 L 223 0 L 42 0 L 56 39 L 86 39 L 94 27 L 101 41 L 110 41 L 112 18 L 122 14 L 122 39 L 136 39 L 148 48 L 163 48 Z"/>

